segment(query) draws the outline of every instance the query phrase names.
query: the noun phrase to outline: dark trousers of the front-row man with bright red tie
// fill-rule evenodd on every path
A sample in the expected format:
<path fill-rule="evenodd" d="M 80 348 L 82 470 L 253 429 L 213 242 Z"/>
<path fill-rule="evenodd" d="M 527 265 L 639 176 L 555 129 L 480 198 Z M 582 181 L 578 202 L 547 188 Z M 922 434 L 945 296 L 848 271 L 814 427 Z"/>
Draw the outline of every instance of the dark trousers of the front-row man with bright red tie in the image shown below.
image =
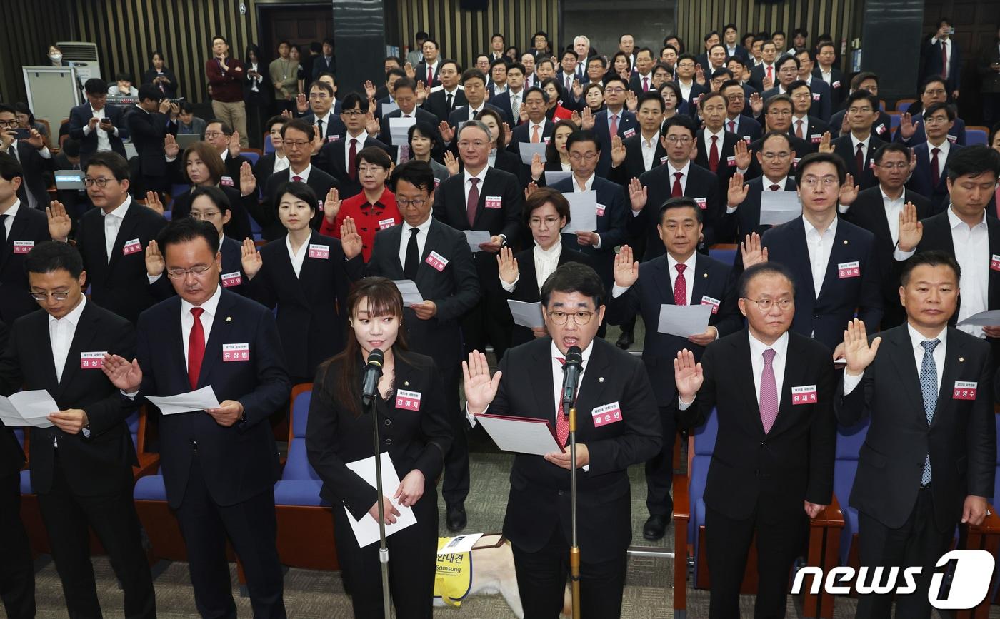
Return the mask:
<path fill-rule="evenodd" d="M 187 546 L 195 605 L 202 617 L 236 619 L 226 561 L 227 536 L 246 573 L 254 618 L 286 617 L 273 488 L 242 503 L 218 505 L 208 493 L 196 456 L 176 514 Z"/>

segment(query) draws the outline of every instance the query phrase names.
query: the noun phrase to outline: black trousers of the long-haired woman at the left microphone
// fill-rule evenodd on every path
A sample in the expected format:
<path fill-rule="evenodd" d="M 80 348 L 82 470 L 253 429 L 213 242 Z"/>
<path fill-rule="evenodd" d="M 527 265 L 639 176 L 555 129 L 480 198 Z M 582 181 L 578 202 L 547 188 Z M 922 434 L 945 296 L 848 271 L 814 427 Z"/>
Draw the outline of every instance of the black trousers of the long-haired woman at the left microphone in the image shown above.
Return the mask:
<path fill-rule="evenodd" d="M 394 489 L 383 488 L 386 494 Z M 424 495 L 413 506 L 417 524 L 385 538 L 389 550 L 389 595 L 397 619 L 430 619 L 434 607 L 434 571 L 437 565 L 437 491 L 434 480 L 424 482 Z M 355 619 L 384 619 L 382 566 L 378 542 L 364 548 L 339 505 L 333 507 L 337 558 L 344 587 L 351 594 Z M 371 518 L 365 514 L 362 518 Z M 391 525 L 388 527 L 391 529 Z M 386 531 L 388 533 L 388 530 Z"/>

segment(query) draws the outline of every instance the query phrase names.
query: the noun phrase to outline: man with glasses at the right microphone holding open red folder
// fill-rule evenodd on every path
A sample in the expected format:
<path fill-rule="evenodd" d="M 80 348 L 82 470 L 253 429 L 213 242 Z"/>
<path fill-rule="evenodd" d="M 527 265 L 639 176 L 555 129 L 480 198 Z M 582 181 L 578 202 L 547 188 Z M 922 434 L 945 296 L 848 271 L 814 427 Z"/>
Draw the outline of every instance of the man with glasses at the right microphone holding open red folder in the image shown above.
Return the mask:
<path fill-rule="evenodd" d="M 569 421 L 564 364 L 577 348 L 577 537 L 581 616 L 621 616 L 626 551 L 632 541 L 628 467 L 660 449 L 659 411 L 641 361 L 595 339 L 604 285 L 590 267 L 560 266 L 542 286 L 549 337 L 507 351 L 492 378 L 478 351 L 462 363 L 470 415 L 488 412 L 552 424 L 565 453 L 517 454 L 503 533 L 514 550 L 525 619 L 555 619 L 563 607 L 571 533 Z M 488 410 L 487 410 L 488 409 Z"/>

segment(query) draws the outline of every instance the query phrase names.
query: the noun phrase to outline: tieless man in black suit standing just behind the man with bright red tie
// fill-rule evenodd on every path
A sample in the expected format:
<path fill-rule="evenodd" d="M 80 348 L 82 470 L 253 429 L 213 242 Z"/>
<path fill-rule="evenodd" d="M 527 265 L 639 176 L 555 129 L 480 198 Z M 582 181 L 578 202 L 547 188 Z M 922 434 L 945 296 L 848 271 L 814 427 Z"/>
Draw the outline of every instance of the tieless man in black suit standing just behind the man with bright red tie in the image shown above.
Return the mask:
<path fill-rule="evenodd" d="M 87 271 L 90 299 L 135 324 L 155 303 L 146 279 L 145 250 L 167 222 L 128 194 L 128 162 L 117 153 L 97 153 L 84 166 L 87 195 L 97 208 L 80 218 L 76 248 Z M 49 235 L 66 241 L 72 227 L 66 209 L 48 209 Z"/>

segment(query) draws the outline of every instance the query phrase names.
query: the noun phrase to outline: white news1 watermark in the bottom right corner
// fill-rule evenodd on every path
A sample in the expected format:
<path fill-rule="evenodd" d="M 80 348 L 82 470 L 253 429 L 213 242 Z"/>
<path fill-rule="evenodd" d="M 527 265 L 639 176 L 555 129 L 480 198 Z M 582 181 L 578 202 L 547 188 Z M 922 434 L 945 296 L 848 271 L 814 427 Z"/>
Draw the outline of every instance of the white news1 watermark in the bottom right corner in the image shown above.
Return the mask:
<path fill-rule="evenodd" d="M 927 591 L 927 600 L 931 606 L 940 610 L 964 610 L 982 602 L 990 592 L 990 580 L 995 567 L 993 555 L 985 550 L 951 550 L 938 559 L 936 567 L 944 567 L 948 562 L 953 562 L 950 570 L 951 586 L 944 592 L 945 597 L 940 597 L 945 573 L 935 572 Z M 848 583 L 852 580 L 858 595 L 908 595 L 916 592 L 916 578 L 921 571 L 920 567 L 854 569 L 838 566 L 824 575 L 822 568 L 807 565 L 795 573 L 792 595 L 802 593 L 807 576 L 812 577 L 809 587 L 811 595 L 819 593 L 820 584 L 831 595 L 850 595 L 851 586 Z"/>

